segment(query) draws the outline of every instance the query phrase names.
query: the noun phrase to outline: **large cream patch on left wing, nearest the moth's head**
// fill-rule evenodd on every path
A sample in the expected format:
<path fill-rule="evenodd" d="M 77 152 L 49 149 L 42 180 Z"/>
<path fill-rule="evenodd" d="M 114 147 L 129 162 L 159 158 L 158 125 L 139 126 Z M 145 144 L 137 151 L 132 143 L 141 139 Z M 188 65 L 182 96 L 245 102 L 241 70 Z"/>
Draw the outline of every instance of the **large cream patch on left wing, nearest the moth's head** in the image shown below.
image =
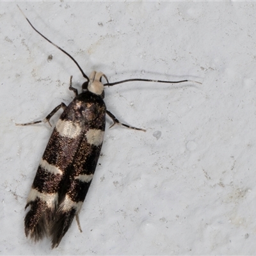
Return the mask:
<path fill-rule="evenodd" d="M 81 126 L 71 121 L 58 120 L 56 124 L 56 130 L 60 133 L 60 136 L 70 139 L 76 138 L 81 134 Z"/>

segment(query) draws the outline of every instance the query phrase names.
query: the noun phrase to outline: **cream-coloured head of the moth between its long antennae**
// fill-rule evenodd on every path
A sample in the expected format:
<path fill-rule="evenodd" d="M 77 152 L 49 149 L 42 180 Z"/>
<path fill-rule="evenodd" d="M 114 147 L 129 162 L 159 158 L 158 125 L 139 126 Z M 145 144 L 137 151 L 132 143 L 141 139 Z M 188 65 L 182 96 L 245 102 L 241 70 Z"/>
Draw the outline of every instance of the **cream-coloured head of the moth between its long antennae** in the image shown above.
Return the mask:
<path fill-rule="evenodd" d="M 83 83 L 83 91 L 88 90 L 104 98 L 104 85 L 101 82 L 102 77 L 108 81 L 108 78 L 102 72 L 93 71 L 90 74 L 89 81 Z"/>

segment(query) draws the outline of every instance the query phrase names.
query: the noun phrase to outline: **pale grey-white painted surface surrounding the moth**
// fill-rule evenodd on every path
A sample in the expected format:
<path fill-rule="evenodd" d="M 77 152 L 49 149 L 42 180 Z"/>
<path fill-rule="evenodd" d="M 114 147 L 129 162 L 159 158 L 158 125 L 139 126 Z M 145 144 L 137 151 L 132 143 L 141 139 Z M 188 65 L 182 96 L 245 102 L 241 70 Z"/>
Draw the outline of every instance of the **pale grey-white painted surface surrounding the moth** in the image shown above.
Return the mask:
<path fill-rule="evenodd" d="M 80 214 L 51 251 L 24 235 L 24 206 L 51 136 L 15 126 L 68 104 L 65 54 L 0 3 L 2 255 L 253 255 L 256 252 L 256 33 L 254 2 L 20 2 L 33 25 L 86 74 L 194 79 L 106 88 L 102 156 Z M 52 54 L 52 61 L 47 57 Z M 56 123 L 60 112 L 52 118 Z M 156 140 L 155 131 L 161 131 Z"/>

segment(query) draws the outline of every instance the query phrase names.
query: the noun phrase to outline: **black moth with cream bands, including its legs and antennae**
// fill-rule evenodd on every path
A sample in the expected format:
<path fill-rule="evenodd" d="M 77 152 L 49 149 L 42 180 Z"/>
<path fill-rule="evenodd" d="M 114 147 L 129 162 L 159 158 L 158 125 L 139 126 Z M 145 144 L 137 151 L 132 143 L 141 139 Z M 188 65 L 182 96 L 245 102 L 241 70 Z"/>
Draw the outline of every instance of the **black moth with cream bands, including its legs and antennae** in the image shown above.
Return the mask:
<path fill-rule="evenodd" d="M 26 16 L 25 18 L 28 20 Z M 60 108 L 63 109 L 63 113 L 52 131 L 51 138 L 38 166 L 25 207 L 25 209 L 27 207 L 30 207 L 30 209 L 24 220 L 27 237 L 34 241 L 50 237 L 52 248 L 56 248 L 75 216 L 79 230 L 82 231 L 78 215 L 92 182 L 93 173 L 100 156 L 106 114 L 113 120 L 113 125 L 118 124 L 131 129 L 145 131 L 144 129 L 120 123 L 107 110 L 103 100 L 104 86 L 113 86 L 131 81 L 184 83 L 191 80 L 126 79 L 108 83 L 107 77 L 102 72 L 95 71 L 88 77 L 70 54 L 37 31 L 29 20 L 28 22 L 40 36 L 71 58 L 83 74 L 84 79 L 86 79 L 82 85 L 82 92 L 78 93 L 77 89 L 72 87 L 72 76 L 70 77 L 69 90 L 72 90 L 76 97 L 68 106 L 61 103 L 44 120 L 17 124 L 31 125 L 41 122 L 50 124 L 50 119 L 54 113 Z M 102 77 L 106 79 L 107 83 L 102 83 Z M 199 83 L 196 81 L 191 82 Z"/>

